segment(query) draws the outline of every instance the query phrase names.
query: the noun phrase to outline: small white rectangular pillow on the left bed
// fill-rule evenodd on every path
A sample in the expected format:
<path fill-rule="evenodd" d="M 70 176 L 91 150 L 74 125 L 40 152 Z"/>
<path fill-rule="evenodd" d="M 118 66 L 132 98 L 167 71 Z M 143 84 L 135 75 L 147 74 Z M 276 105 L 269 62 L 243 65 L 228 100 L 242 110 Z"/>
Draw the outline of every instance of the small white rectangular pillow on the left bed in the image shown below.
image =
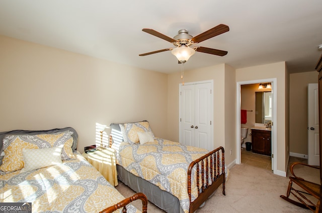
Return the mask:
<path fill-rule="evenodd" d="M 60 164 L 61 149 L 63 144 L 57 147 L 47 149 L 24 149 L 24 168 L 21 172 L 28 172 L 35 169 L 40 169 L 47 166 Z"/>

